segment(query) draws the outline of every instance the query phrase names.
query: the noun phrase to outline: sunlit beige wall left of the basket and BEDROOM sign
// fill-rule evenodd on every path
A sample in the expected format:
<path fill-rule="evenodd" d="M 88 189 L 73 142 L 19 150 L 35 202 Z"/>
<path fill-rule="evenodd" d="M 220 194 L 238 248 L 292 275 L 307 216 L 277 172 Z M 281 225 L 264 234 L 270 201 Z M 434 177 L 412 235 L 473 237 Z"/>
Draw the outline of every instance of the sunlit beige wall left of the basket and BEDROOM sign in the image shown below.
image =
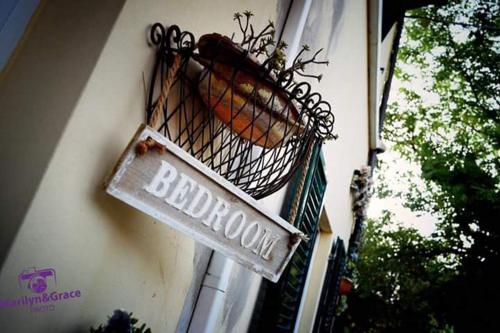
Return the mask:
<path fill-rule="evenodd" d="M 53 267 L 57 272 L 53 290 L 79 289 L 82 297 L 55 303 L 55 311 L 48 313 L 2 308 L 2 330 L 86 331 L 116 308 L 133 311 L 153 331 L 175 330 L 191 282 L 194 242 L 109 197 L 101 182 L 144 118 L 142 73 L 148 75 L 154 55 L 146 45 L 148 25 L 175 23 L 195 36 L 212 31 L 230 34 L 233 13 L 245 9 L 255 13 L 256 25 L 265 24 L 275 18 L 276 1 L 125 3 L 0 275 L 1 298 L 29 294 L 18 286 L 17 277 L 33 266 Z M 53 58 L 52 66 L 57 68 L 59 61 Z M 71 80 L 67 85 L 71 88 Z M 43 98 L 43 91 L 36 96 Z M 36 98 L 32 102 L 37 103 Z M 43 108 L 39 112 L 47 114 L 44 122 L 57 116 Z"/>

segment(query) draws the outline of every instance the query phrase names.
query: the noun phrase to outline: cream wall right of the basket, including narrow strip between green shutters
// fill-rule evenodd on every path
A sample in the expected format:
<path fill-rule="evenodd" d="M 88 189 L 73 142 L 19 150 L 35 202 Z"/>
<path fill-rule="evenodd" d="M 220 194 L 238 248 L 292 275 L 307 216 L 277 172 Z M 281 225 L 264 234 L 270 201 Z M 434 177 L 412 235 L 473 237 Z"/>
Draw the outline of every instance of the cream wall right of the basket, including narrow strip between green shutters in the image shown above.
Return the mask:
<path fill-rule="evenodd" d="M 328 187 L 325 212 L 332 233 L 322 232 L 310 269 L 298 332 L 310 332 L 321 294 L 332 242 L 339 236 L 347 246 L 353 226 L 350 183 L 355 169 L 368 159 L 367 2 L 343 1 L 341 20 L 330 46 L 330 65 L 323 69 L 318 91 L 332 104 L 338 140 L 323 147 Z"/>

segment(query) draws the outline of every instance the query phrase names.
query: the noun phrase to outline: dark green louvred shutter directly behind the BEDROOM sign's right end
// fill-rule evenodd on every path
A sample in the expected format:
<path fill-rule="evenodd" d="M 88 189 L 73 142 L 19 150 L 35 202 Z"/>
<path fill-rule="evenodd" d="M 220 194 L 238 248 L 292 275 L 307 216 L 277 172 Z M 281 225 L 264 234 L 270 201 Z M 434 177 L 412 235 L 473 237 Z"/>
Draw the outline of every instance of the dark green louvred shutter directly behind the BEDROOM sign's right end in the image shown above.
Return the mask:
<path fill-rule="evenodd" d="M 300 195 L 293 224 L 309 237 L 302 241 L 278 283 L 264 281 L 261 287 L 250 331 L 293 332 L 304 291 L 314 244 L 319 231 L 319 218 L 326 190 L 325 163 L 321 145 L 314 146 L 302 193 L 296 193 L 302 172 L 298 172 L 289 193 Z M 284 218 L 291 210 L 293 195 L 287 199 Z"/>

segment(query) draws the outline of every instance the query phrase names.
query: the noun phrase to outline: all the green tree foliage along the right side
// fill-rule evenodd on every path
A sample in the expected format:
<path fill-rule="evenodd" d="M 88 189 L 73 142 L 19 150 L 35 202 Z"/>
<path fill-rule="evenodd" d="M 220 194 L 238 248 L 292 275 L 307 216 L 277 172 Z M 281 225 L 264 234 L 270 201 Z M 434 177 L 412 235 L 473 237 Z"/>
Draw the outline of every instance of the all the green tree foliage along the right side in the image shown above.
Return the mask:
<path fill-rule="evenodd" d="M 426 332 L 448 324 L 456 332 L 496 328 L 499 7 L 497 1 L 453 0 L 407 13 L 396 68 L 401 88 L 388 109 L 384 139 L 421 169 L 425 186 L 407 180 L 399 193 L 406 207 L 432 212 L 439 223 L 423 239 L 411 229 L 374 229 L 390 216 L 372 222 L 359 269 L 360 276 L 373 273 L 361 281 L 348 313 L 354 323 L 364 320 L 365 331 Z M 382 188 L 386 196 L 395 194 Z M 443 258 L 453 258 L 455 265 Z M 367 318 L 359 317 L 360 309 Z M 389 329 L 377 328 L 381 323 Z"/>

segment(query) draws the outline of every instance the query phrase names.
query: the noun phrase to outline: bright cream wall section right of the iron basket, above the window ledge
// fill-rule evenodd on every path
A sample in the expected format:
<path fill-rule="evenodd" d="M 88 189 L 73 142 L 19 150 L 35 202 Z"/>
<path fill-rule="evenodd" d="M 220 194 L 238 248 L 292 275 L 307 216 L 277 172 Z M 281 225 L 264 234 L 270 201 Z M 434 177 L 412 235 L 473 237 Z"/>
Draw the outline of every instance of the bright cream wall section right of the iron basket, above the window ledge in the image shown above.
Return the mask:
<path fill-rule="evenodd" d="M 366 2 L 346 1 L 332 63 L 320 91 L 332 101 L 336 141 L 324 146 L 328 173 L 325 210 L 335 236 L 348 241 L 352 173 L 368 159 Z"/>

